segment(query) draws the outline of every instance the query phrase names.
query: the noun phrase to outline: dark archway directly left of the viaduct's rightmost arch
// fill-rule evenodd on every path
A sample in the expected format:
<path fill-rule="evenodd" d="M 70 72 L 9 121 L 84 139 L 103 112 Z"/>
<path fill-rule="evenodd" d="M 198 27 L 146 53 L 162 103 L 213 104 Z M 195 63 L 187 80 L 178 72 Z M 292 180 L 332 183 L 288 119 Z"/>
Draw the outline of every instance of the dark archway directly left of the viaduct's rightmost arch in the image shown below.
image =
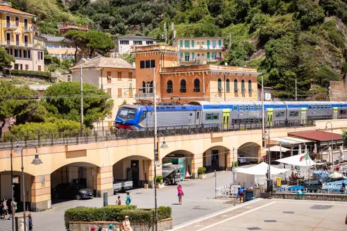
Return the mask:
<path fill-rule="evenodd" d="M 214 146 L 203 153 L 203 166 L 207 172 L 226 170 L 230 149 L 224 146 Z"/>

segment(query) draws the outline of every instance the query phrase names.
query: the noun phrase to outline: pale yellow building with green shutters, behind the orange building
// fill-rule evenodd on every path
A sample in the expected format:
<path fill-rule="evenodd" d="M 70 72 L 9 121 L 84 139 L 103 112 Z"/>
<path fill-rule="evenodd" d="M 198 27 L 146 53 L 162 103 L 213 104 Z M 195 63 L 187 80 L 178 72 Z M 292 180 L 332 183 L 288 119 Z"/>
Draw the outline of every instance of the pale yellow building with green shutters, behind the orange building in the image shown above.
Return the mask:
<path fill-rule="evenodd" d="M 177 37 L 180 65 L 206 65 L 223 59 L 225 37 Z"/>

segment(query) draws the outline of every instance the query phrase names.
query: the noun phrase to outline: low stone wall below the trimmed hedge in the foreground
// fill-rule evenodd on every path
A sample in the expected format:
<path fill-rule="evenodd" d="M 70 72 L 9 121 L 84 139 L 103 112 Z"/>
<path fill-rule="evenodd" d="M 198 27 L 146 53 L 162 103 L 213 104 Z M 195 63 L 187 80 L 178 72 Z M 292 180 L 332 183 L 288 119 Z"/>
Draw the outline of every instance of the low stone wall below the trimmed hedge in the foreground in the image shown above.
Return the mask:
<path fill-rule="evenodd" d="M 115 225 L 115 228 L 119 230 L 121 227 L 121 222 L 115 222 L 115 221 L 94 221 L 94 222 L 70 222 L 69 223 L 69 229 L 70 231 L 90 231 L 91 228 L 96 228 L 96 230 L 99 229 L 99 227 L 102 227 L 104 229 L 108 229 L 108 225 L 113 224 Z M 131 223 L 131 228 L 133 228 L 134 231 L 153 231 L 155 230 L 154 224 L 149 223 Z M 161 221 L 158 221 L 158 230 L 171 230 L 172 229 L 172 219 L 164 219 Z M 115 229 L 116 230 L 116 229 Z"/>

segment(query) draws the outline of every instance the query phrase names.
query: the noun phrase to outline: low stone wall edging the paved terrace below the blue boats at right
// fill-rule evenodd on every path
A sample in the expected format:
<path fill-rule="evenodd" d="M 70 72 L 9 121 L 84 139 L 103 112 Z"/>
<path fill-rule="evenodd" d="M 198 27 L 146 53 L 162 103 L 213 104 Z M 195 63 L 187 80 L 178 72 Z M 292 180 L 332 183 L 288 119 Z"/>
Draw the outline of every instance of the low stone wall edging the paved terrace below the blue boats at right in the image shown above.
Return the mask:
<path fill-rule="evenodd" d="M 262 198 L 268 198 L 269 194 L 262 193 Z M 344 194 L 294 194 L 294 193 L 273 193 L 271 198 L 289 200 L 325 200 L 347 202 L 347 195 Z"/>

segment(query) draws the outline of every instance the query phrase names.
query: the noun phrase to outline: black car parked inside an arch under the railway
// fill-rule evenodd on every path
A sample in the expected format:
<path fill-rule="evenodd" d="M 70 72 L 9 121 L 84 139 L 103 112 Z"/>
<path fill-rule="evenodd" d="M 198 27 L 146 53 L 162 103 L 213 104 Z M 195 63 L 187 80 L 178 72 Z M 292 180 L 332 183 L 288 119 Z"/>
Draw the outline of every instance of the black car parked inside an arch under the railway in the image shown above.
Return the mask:
<path fill-rule="evenodd" d="M 54 188 L 55 198 L 76 198 L 77 200 L 92 198 L 92 189 L 83 189 L 83 187 L 72 183 L 61 183 Z"/>

